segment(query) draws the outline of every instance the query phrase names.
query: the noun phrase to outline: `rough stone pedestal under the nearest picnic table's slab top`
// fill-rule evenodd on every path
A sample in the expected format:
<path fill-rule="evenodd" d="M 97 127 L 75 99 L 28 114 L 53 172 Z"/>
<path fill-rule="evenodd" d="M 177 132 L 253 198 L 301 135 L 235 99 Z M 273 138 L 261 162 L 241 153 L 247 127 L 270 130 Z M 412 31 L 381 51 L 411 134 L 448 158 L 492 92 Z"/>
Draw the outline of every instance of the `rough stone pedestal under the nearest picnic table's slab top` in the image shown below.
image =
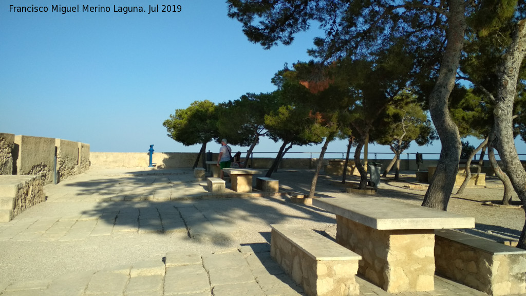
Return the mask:
<path fill-rule="evenodd" d="M 376 230 L 340 215 L 336 219 L 336 241 L 362 256 L 358 273 L 371 283 L 389 293 L 434 290 L 432 229 Z"/>

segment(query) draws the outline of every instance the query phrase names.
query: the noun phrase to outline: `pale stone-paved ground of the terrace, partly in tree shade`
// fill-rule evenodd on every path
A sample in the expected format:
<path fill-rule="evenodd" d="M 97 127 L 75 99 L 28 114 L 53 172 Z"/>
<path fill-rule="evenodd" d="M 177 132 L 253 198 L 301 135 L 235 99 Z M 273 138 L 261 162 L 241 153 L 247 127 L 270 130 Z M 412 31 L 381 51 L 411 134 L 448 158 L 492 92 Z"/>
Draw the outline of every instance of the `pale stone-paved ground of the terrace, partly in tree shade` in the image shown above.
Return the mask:
<path fill-rule="evenodd" d="M 308 192 L 312 171 L 280 171 Z M 336 179 L 338 179 L 336 177 Z M 320 195 L 342 194 L 320 176 Z M 102 169 L 46 185 L 47 201 L 0 223 L 0 295 L 304 295 L 270 258 L 270 227 L 301 223 L 334 236 L 332 214 L 284 195 L 206 191 L 193 171 Z M 389 295 L 357 278 L 361 295 Z M 485 295 L 435 277 L 435 290 Z"/>

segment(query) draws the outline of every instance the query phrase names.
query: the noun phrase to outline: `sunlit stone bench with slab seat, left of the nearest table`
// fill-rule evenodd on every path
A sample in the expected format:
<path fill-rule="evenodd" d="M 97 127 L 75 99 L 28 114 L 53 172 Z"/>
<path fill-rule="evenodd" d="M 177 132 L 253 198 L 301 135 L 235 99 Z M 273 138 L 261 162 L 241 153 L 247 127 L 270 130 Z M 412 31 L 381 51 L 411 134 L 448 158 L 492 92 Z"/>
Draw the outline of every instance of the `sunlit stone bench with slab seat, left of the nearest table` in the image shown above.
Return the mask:
<path fill-rule="evenodd" d="M 358 295 L 361 256 L 312 229 L 270 225 L 270 255 L 309 296 Z"/>

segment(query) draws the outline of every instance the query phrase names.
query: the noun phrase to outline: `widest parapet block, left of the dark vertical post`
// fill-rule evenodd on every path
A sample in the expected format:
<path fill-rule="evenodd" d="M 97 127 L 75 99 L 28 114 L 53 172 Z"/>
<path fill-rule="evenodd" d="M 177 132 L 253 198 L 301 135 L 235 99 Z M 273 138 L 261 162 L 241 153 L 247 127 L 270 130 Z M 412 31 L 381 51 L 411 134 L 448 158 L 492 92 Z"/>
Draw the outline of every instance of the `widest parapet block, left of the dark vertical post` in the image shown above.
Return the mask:
<path fill-rule="evenodd" d="M 15 145 L 18 145 L 17 174 L 43 173 L 44 182 L 52 183 L 55 168 L 55 139 L 16 135 Z"/>

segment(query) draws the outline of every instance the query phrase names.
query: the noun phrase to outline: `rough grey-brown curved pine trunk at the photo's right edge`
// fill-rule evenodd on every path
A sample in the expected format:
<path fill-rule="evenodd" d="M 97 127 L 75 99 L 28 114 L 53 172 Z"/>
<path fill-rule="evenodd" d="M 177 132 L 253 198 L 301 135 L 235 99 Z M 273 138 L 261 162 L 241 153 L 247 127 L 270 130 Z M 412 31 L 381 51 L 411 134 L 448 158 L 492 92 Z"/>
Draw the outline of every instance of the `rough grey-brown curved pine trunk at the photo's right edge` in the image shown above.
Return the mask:
<path fill-rule="evenodd" d="M 499 85 L 493 115 L 495 123 L 493 136 L 495 149 L 499 151 L 504 171 L 510 178 L 513 189 L 519 195 L 526 213 L 526 171 L 522 166 L 513 137 L 513 100 L 517 92 L 520 66 L 526 53 L 526 21 L 517 24 L 512 43 L 503 55 L 502 64 L 497 69 Z M 517 248 L 526 250 L 526 223 L 522 228 Z"/>

